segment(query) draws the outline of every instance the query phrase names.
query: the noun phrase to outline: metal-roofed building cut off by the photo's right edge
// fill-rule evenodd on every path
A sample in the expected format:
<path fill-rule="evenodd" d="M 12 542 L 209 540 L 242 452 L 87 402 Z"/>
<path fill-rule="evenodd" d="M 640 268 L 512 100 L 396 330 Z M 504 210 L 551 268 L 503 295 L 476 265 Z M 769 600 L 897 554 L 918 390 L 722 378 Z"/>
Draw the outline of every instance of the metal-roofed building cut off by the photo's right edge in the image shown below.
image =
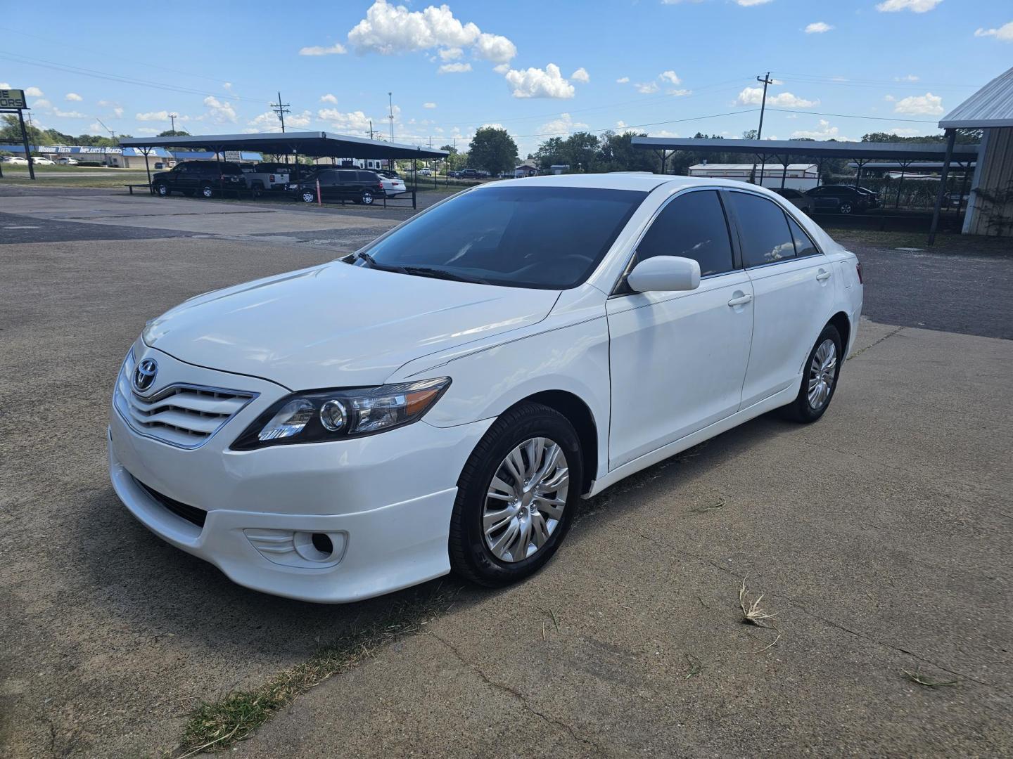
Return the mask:
<path fill-rule="evenodd" d="M 1013 69 L 943 116 L 939 126 L 951 141 L 956 130 L 982 130 L 963 233 L 1013 235 Z"/>

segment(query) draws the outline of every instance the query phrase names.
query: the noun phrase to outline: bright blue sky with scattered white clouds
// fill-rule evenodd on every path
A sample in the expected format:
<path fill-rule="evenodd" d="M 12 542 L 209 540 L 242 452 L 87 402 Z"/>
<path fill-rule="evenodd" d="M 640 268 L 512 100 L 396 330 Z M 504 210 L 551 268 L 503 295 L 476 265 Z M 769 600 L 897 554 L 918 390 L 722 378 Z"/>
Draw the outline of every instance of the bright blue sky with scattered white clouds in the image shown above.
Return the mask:
<path fill-rule="evenodd" d="M 283 10 L 284 9 L 284 10 Z M 43 20 L 46 23 L 43 23 Z M 123 32 L 120 32 L 123 29 Z M 37 125 L 143 136 L 389 133 L 436 146 L 483 124 L 521 155 L 577 130 L 738 137 L 935 134 L 1013 58 L 1009 0 L 343 0 L 103 3 L 0 14 L 0 86 Z M 701 116 L 710 116 L 700 118 Z M 862 116 L 859 118 L 857 116 Z"/>

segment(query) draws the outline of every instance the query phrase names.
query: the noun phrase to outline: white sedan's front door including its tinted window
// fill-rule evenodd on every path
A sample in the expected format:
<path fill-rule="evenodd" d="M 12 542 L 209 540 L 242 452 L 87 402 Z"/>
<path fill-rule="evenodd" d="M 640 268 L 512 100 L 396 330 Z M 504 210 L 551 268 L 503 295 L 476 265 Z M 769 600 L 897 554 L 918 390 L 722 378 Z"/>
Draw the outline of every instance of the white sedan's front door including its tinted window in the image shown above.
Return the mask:
<path fill-rule="evenodd" d="M 696 259 L 700 286 L 609 299 L 610 470 L 724 419 L 742 400 L 753 287 L 736 268 L 716 190 L 669 201 L 637 246 L 635 262 L 657 255 Z"/>

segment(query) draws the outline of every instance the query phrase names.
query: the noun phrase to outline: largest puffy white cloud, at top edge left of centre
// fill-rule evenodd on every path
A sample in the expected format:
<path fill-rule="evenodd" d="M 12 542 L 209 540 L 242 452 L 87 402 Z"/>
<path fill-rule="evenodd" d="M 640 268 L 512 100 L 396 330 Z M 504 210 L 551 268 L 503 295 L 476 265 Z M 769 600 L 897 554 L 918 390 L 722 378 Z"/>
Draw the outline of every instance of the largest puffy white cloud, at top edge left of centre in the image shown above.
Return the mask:
<path fill-rule="evenodd" d="M 470 48 L 476 58 L 495 64 L 508 63 L 517 56 L 513 41 L 484 32 L 470 21 L 462 22 L 447 5 L 409 11 L 386 0 L 376 0 L 370 6 L 366 18 L 348 32 L 348 43 L 359 54 L 382 56 L 437 48 L 444 61 L 458 58 L 464 48 Z"/>

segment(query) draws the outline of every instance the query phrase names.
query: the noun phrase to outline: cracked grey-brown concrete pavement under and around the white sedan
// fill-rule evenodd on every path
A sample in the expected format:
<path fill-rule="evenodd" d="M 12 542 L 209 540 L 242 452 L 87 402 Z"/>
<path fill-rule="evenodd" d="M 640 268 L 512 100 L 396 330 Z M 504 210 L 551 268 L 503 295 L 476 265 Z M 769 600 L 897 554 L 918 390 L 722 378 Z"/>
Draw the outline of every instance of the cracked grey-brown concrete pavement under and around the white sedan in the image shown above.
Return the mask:
<path fill-rule="evenodd" d="M 456 594 L 449 611 L 233 753 L 1013 753 L 1013 342 L 918 315 L 862 324 L 820 423 L 763 417 L 620 483 L 516 587 L 445 578 L 313 606 L 238 588 L 147 532 L 104 465 L 126 347 L 197 292 L 333 258 L 360 234 L 340 224 L 313 245 L 221 220 L 207 239 L 105 225 L 113 239 L 61 228 L 0 245 L 0 754 L 157 755 L 196 699 L 255 687 L 437 588 Z M 865 259 L 874 316 L 877 255 L 893 254 Z M 966 294 L 961 331 L 1008 322 Z M 776 628 L 741 623 L 744 577 Z"/>

